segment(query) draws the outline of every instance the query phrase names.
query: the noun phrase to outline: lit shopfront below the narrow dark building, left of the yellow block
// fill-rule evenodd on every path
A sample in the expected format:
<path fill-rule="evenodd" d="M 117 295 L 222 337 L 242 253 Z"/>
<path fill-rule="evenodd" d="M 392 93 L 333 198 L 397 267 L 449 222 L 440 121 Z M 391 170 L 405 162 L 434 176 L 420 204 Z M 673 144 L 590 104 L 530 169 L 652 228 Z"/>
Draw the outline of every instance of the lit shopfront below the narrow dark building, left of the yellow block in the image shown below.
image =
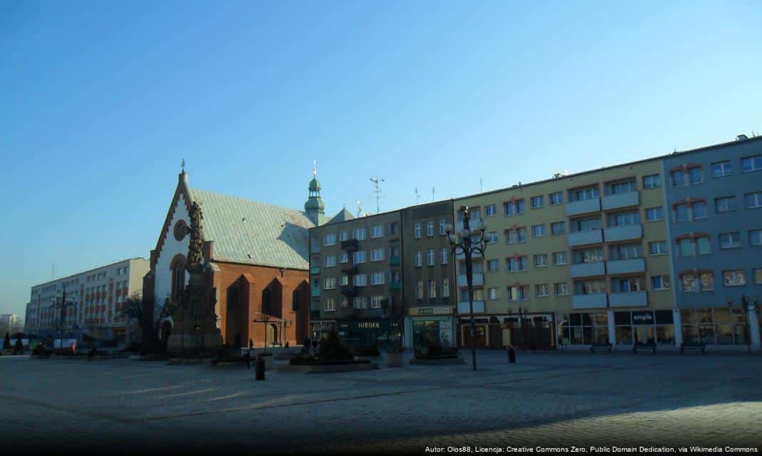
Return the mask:
<path fill-rule="evenodd" d="M 408 308 L 405 316 L 405 347 L 421 348 L 438 342 L 443 346 L 456 344 L 453 308 Z"/>

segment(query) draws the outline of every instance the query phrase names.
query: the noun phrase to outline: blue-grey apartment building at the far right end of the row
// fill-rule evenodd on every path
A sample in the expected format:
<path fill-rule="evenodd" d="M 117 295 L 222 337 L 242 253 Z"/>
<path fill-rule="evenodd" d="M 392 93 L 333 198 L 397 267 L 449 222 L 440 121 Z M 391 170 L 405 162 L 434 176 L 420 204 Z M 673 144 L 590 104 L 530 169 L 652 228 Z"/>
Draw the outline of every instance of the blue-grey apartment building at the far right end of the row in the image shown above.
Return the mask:
<path fill-rule="evenodd" d="M 758 349 L 762 138 L 668 155 L 664 177 L 682 340 Z"/>

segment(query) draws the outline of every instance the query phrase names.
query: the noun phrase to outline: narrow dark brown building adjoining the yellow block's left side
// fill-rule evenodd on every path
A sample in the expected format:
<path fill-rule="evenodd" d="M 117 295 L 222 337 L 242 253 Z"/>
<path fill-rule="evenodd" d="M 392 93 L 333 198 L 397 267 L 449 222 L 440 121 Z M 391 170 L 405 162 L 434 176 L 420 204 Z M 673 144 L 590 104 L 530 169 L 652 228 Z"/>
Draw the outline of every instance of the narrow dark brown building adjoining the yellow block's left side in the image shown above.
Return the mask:
<path fill-rule="evenodd" d="M 445 227 L 453 223 L 451 201 L 402 209 L 402 296 L 405 347 L 427 341 L 456 344 L 456 277 Z"/>

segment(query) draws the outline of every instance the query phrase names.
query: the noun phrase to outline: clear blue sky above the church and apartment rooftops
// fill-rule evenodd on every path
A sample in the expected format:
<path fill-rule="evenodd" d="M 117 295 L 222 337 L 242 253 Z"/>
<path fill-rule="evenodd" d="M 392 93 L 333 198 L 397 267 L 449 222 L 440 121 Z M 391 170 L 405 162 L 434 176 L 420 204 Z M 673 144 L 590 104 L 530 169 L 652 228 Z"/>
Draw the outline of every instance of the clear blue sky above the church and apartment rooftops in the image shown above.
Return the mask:
<path fill-rule="evenodd" d="M 0 2 L 0 312 L 200 188 L 326 212 L 762 130 L 759 2 Z"/>

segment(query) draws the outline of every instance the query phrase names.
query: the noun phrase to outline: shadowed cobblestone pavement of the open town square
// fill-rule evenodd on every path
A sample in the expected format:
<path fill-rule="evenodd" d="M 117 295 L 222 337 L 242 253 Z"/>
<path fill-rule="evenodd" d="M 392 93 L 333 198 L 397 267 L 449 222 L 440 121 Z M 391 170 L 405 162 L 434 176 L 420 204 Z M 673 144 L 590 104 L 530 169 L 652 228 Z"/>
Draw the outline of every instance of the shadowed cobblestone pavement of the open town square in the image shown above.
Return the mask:
<path fill-rule="evenodd" d="M 509 365 L 502 352 L 480 352 L 475 372 L 469 363 L 268 371 L 262 382 L 239 367 L 4 356 L 0 439 L 110 452 L 757 446 L 760 372 L 762 357 L 745 354 L 537 353 Z"/>

